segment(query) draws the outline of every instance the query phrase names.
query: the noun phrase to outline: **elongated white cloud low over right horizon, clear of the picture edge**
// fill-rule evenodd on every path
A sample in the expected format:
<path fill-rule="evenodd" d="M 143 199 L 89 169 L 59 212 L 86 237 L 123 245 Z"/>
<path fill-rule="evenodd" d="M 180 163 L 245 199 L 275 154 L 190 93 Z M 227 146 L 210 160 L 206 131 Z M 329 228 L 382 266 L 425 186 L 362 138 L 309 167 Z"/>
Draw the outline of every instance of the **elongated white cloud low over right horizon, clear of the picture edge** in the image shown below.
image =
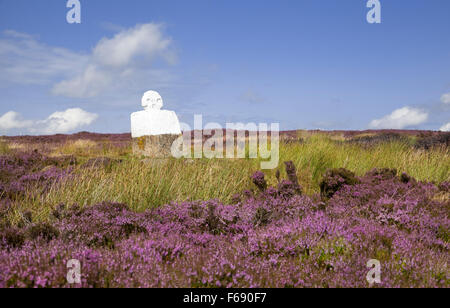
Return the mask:
<path fill-rule="evenodd" d="M 381 119 L 373 120 L 370 122 L 369 127 L 373 129 L 402 129 L 422 124 L 426 122 L 427 119 L 428 112 L 406 106 L 394 110 L 391 114 L 386 115 Z"/>

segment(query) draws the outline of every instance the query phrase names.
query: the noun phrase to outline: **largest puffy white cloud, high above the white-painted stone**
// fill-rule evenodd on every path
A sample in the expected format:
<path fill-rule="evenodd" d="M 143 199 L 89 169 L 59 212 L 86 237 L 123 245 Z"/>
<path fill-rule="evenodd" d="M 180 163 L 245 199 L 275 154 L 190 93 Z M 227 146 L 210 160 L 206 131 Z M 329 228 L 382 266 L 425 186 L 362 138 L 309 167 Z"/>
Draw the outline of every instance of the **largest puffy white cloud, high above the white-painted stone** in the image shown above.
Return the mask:
<path fill-rule="evenodd" d="M 52 93 L 72 98 L 95 97 L 117 91 L 119 85 L 135 84 L 136 76 L 141 82 L 153 83 L 154 87 L 167 75 L 162 72 L 161 78 L 152 78 L 152 75 L 158 75 L 158 70 L 151 67 L 152 60 L 157 58 L 175 63 L 171 40 L 163 35 L 161 25 L 137 25 L 122 30 L 113 38 L 101 39 L 84 70 L 54 85 Z"/>

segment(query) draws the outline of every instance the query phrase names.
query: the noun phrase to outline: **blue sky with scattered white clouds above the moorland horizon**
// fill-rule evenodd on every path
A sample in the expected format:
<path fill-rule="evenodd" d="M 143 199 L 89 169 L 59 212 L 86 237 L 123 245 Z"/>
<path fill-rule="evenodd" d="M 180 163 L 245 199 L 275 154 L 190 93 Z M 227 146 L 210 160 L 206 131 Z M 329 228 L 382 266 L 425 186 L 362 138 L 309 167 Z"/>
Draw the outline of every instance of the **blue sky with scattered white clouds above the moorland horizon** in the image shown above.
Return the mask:
<path fill-rule="evenodd" d="M 130 131 L 146 90 L 191 124 L 450 128 L 450 1 L 0 0 L 0 135 Z"/>

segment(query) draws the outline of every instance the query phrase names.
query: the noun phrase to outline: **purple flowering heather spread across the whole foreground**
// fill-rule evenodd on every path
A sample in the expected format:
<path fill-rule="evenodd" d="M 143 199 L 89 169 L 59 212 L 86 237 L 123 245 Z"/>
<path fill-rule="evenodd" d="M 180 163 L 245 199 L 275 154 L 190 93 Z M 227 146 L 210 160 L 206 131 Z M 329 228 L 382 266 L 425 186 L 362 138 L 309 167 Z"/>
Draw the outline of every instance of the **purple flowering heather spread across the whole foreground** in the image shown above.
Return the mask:
<path fill-rule="evenodd" d="M 59 205 L 49 223 L 0 227 L 0 287 L 368 287 L 369 259 L 381 262 L 375 286 L 449 287 L 449 199 L 405 179 L 373 170 L 324 199 L 282 180 L 235 204 L 141 213 Z M 81 284 L 66 281 L 70 259 Z"/>

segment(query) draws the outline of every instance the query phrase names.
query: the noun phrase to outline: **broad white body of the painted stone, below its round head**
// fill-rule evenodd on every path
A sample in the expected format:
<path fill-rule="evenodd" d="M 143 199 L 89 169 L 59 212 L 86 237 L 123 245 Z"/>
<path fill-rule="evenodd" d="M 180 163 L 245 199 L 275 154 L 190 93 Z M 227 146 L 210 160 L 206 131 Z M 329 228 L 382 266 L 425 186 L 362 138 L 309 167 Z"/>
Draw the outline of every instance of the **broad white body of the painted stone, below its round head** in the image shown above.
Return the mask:
<path fill-rule="evenodd" d="M 149 109 L 131 114 L 131 136 L 180 135 L 181 127 L 174 111 Z"/>

